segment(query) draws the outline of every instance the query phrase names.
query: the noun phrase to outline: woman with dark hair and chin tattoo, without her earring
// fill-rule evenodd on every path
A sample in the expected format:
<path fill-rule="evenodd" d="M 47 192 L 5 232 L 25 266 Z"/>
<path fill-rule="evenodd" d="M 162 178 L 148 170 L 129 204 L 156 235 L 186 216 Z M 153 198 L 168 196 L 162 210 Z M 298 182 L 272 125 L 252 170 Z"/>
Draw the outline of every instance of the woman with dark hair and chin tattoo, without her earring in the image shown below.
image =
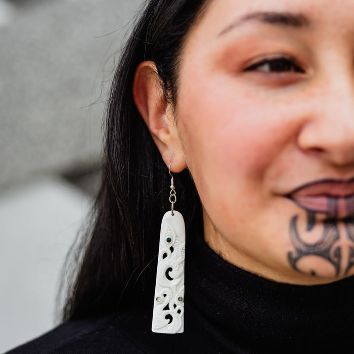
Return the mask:
<path fill-rule="evenodd" d="M 113 80 L 65 323 L 14 352 L 353 352 L 353 11 L 147 4 Z M 175 335 L 151 332 L 168 167 L 186 224 Z"/>

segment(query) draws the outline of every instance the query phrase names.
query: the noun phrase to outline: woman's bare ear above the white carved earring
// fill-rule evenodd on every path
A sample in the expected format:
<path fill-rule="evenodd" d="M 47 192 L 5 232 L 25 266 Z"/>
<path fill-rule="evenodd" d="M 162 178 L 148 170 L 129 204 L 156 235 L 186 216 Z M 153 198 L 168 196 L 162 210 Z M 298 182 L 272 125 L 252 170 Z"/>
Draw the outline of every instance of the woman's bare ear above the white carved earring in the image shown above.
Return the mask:
<path fill-rule="evenodd" d="M 145 61 L 136 72 L 132 94 L 166 166 L 181 172 L 187 167 L 172 105 L 165 99 L 155 63 Z"/>

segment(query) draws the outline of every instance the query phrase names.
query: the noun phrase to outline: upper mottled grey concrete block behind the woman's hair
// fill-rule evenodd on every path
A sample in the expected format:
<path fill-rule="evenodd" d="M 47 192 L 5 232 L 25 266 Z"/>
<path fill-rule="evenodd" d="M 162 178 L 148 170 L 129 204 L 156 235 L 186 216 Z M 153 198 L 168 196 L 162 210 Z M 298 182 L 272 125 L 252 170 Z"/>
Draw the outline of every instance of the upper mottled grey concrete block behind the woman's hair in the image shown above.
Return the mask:
<path fill-rule="evenodd" d="M 141 3 L 9 1 L 0 27 L 0 187 L 97 161 L 112 55 Z"/>

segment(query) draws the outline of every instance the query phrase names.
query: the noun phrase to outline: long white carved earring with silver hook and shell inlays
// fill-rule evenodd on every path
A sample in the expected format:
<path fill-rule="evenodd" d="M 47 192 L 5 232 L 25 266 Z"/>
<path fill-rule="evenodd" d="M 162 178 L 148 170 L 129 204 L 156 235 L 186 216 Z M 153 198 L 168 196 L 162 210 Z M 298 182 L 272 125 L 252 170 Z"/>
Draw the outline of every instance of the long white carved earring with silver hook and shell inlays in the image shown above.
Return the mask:
<path fill-rule="evenodd" d="M 176 193 L 171 176 L 169 201 L 171 210 L 162 218 L 157 261 L 152 331 L 156 333 L 183 333 L 185 294 L 185 222 L 174 210 Z"/>

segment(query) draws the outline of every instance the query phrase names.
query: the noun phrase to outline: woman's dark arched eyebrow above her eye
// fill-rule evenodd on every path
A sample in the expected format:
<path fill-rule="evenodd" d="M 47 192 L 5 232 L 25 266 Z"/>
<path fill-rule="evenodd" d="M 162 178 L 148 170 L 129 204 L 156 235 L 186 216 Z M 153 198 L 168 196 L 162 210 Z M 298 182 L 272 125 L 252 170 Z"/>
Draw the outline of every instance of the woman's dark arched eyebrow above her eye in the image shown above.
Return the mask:
<path fill-rule="evenodd" d="M 292 14 L 289 12 L 253 12 L 244 15 L 234 21 L 232 24 L 223 29 L 219 33 L 219 36 L 248 21 L 258 21 L 276 26 L 288 26 L 296 28 L 308 27 L 310 24 L 310 21 L 307 19 L 307 17 L 301 14 Z"/>

